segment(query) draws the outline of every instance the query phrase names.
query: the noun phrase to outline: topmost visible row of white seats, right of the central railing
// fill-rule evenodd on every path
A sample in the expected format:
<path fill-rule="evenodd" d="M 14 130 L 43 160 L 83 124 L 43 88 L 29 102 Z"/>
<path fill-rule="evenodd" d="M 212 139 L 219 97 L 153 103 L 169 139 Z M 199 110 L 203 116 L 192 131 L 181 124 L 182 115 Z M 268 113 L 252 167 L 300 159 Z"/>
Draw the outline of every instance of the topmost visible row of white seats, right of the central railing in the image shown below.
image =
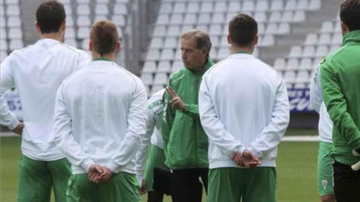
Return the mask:
<path fill-rule="evenodd" d="M 165 2 L 168 0 L 164 0 Z M 181 0 L 169 1 L 163 3 L 160 7 L 160 13 L 213 13 L 213 12 L 243 12 L 252 11 L 288 11 L 288 10 L 318 10 L 321 6 L 320 0 L 253 0 L 253 1 L 202 1 L 199 2 Z M 184 0 L 183 0 L 184 1 Z"/>

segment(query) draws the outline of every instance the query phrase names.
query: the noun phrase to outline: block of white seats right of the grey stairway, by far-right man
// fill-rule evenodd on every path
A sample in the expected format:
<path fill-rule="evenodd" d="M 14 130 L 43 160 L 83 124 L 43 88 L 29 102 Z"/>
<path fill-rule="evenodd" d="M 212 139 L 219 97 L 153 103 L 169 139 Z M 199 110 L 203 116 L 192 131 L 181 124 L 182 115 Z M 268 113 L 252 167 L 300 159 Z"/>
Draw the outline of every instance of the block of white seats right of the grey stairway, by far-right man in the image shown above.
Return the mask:
<path fill-rule="evenodd" d="M 274 68 L 284 74 L 288 88 L 309 88 L 313 69 L 321 58 L 341 46 L 339 19 L 324 21 L 320 31 L 308 33 L 300 46 L 291 46 L 287 56 L 277 58 Z"/>

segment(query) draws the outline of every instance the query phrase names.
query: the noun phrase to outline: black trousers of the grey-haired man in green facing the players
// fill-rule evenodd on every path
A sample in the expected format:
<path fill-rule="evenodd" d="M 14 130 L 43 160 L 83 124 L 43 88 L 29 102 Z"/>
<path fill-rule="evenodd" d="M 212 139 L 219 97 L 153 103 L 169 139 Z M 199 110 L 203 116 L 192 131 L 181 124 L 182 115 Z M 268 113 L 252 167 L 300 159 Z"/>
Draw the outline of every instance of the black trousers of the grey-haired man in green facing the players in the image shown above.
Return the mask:
<path fill-rule="evenodd" d="M 171 174 L 172 202 L 201 202 L 204 184 L 207 193 L 208 169 L 173 170 Z"/>

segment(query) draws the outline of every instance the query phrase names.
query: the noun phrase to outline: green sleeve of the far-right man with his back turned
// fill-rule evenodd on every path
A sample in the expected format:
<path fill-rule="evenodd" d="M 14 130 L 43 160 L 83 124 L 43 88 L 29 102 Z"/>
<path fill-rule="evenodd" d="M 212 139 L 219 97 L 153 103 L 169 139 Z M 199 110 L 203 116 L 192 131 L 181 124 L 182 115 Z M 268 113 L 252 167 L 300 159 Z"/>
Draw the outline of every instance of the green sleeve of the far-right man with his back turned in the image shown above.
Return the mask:
<path fill-rule="evenodd" d="M 360 148 L 360 131 L 347 111 L 347 101 L 334 68 L 336 66 L 330 66 L 328 63 L 321 65 L 321 86 L 325 106 L 339 134 L 351 148 L 357 149 Z"/>

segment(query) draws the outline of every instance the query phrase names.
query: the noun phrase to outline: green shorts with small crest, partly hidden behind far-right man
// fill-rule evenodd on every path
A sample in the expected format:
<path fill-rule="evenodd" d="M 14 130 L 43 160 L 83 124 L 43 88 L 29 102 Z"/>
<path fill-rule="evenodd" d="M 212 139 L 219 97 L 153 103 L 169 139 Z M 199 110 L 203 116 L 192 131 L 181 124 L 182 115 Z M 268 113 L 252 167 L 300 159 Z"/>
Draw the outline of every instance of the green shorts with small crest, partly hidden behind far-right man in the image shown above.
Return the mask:
<path fill-rule="evenodd" d="M 332 167 L 334 159 L 329 155 L 332 146 L 332 143 L 319 141 L 318 171 L 316 174 L 319 196 L 334 194 Z"/>

